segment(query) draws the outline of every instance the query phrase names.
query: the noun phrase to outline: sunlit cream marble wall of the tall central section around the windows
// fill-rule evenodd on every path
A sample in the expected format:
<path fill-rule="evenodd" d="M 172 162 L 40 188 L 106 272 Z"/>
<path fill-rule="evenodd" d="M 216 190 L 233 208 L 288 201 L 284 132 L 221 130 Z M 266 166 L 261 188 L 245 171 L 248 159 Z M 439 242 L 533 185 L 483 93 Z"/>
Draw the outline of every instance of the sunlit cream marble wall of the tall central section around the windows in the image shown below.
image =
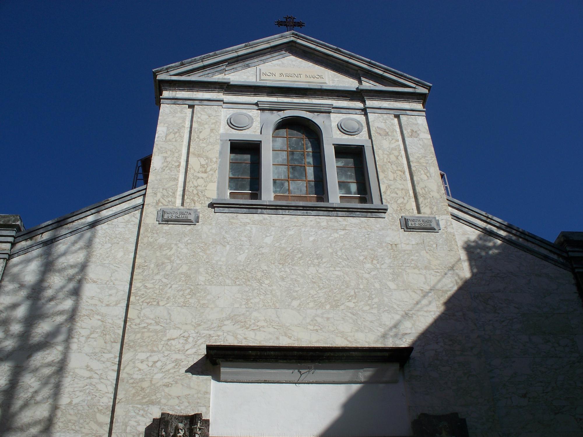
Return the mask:
<path fill-rule="evenodd" d="M 203 96 L 163 95 L 189 92 Z M 222 99 L 254 106 L 160 107 L 114 423 L 127 436 L 161 411 L 209 417 L 206 344 L 410 346 L 465 279 L 423 116 L 401 115 L 399 128 L 392 113 L 331 114 L 334 136 L 344 136 L 340 118 L 363 122 L 357 138 L 372 140 L 386 218 L 220 214 L 208 203 L 216 197 L 220 133 L 235 132 L 230 114 L 250 114 L 254 125 L 243 133 L 258 134 L 257 100 L 361 111 L 366 104 L 317 91 L 254 96 L 229 87 Z M 200 223 L 159 225 L 157 209 L 180 204 L 184 168 L 184 207 L 198 208 Z M 412 177 L 422 213 L 441 221 L 437 234 L 400 229 L 401 215 L 416 213 Z"/>

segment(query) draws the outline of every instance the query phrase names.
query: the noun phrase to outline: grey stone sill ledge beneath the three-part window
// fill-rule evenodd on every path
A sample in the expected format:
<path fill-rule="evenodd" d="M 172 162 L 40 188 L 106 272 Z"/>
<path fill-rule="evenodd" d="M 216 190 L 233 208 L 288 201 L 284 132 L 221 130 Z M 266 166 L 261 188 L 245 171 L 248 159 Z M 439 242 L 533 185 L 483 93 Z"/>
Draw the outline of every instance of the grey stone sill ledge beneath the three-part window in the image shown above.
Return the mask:
<path fill-rule="evenodd" d="M 216 213 L 287 214 L 293 216 L 385 218 L 387 205 L 352 203 L 282 202 L 281 200 L 213 199 Z"/>

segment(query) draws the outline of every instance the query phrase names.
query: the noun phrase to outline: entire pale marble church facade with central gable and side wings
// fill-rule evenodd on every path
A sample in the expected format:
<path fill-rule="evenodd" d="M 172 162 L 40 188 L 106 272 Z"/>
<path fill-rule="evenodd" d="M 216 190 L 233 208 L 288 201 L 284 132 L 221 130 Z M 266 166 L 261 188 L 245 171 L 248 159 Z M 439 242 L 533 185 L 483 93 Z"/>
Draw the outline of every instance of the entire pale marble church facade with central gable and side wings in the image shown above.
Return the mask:
<path fill-rule="evenodd" d="M 583 235 L 447 196 L 429 83 L 294 31 L 153 74 L 146 185 L 0 216 L 3 434 L 581 435 Z"/>

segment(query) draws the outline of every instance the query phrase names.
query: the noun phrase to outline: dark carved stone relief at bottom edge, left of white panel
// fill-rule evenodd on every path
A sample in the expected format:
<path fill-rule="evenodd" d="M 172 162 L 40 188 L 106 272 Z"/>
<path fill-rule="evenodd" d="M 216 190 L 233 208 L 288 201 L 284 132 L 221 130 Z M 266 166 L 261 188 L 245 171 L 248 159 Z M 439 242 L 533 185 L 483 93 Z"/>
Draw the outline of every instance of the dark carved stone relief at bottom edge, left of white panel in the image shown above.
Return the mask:
<path fill-rule="evenodd" d="M 209 420 L 201 413 L 162 413 L 146 427 L 144 437 L 209 437 Z"/>

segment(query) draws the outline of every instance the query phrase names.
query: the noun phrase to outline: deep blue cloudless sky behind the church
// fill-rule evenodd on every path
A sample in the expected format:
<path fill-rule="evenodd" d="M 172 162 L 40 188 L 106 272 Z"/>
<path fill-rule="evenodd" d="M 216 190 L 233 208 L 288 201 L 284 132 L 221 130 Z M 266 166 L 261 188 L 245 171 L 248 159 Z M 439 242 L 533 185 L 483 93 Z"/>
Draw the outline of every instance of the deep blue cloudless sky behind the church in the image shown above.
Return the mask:
<path fill-rule="evenodd" d="M 0 1 L 0 213 L 27 227 L 131 188 L 152 69 L 301 31 L 433 84 L 452 194 L 554 241 L 583 231 L 583 2 Z"/>

